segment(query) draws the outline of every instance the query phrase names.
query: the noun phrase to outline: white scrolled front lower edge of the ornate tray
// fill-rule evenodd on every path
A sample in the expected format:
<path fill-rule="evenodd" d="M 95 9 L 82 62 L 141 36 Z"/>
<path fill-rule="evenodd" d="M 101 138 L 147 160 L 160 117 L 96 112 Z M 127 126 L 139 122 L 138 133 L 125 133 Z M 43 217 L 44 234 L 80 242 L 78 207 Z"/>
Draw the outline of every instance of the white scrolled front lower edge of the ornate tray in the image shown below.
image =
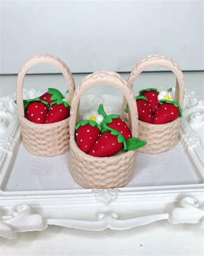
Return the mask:
<path fill-rule="evenodd" d="M 114 192 L 115 193 L 115 192 Z M 0 210 L 0 236 L 14 239 L 16 233 L 25 231 L 44 230 L 48 225 L 58 225 L 82 230 L 123 230 L 149 224 L 155 221 L 168 220 L 172 224 L 189 223 L 198 224 L 204 229 L 204 208 L 196 198 L 182 198 L 177 207 L 169 213 L 146 215 L 130 219 L 120 219 L 116 212 L 99 213 L 96 220 L 43 218 L 36 214 L 31 205 L 15 205 L 11 215 L 4 215 Z"/>

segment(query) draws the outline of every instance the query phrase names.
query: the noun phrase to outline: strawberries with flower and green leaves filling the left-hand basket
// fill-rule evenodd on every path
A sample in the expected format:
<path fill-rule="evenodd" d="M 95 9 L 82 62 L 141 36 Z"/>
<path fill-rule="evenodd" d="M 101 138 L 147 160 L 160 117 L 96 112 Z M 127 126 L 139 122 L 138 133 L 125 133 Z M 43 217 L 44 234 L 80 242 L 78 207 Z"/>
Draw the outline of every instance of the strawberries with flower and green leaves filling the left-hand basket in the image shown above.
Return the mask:
<path fill-rule="evenodd" d="M 16 102 L 16 101 L 15 101 Z M 23 100 L 25 117 L 36 124 L 50 124 L 62 121 L 70 115 L 70 104 L 68 91 L 65 97 L 54 88 L 35 99 Z"/>

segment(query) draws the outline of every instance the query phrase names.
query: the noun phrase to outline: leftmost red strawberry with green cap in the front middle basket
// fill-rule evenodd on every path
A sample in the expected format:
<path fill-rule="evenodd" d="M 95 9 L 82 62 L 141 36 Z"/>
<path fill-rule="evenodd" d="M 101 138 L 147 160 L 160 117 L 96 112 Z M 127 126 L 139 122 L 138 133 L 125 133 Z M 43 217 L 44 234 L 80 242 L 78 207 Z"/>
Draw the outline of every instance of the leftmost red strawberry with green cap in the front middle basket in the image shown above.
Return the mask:
<path fill-rule="evenodd" d="M 77 145 L 85 153 L 88 153 L 95 141 L 99 138 L 101 127 L 91 120 L 82 120 L 76 127 Z"/>

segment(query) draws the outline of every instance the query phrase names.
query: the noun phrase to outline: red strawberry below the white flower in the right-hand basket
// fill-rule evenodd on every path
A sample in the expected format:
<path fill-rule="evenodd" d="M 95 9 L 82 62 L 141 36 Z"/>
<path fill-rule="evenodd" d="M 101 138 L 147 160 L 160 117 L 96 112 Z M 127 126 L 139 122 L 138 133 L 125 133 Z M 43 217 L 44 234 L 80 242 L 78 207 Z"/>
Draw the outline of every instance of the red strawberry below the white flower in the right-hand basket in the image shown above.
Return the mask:
<path fill-rule="evenodd" d="M 172 122 L 177 117 L 182 117 L 182 109 L 177 102 L 170 100 L 160 100 L 162 105 L 159 106 L 153 118 L 153 124 L 160 125 Z"/>

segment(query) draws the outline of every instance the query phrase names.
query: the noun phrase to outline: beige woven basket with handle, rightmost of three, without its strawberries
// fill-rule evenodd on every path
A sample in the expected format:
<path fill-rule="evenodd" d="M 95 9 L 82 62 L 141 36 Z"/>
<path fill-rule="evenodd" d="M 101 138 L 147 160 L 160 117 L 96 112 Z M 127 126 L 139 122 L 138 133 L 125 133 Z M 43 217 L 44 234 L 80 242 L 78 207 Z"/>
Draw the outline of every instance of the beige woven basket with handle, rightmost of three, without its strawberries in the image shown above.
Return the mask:
<path fill-rule="evenodd" d="M 148 67 L 167 67 L 176 76 L 176 91 L 174 101 L 183 106 L 184 100 L 184 79 L 181 69 L 178 64 L 171 58 L 162 55 L 151 55 L 148 58 L 140 61 L 133 67 L 130 77 L 127 82 L 133 86 L 136 77 Z M 123 118 L 128 122 L 128 114 L 125 112 L 127 107 L 127 100 L 123 102 Z M 180 118 L 163 125 L 153 125 L 146 122 L 138 121 L 138 138 L 145 140 L 147 144 L 138 151 L 142 153 L 158 154 L 173 148 L 179 137 Z"/>

